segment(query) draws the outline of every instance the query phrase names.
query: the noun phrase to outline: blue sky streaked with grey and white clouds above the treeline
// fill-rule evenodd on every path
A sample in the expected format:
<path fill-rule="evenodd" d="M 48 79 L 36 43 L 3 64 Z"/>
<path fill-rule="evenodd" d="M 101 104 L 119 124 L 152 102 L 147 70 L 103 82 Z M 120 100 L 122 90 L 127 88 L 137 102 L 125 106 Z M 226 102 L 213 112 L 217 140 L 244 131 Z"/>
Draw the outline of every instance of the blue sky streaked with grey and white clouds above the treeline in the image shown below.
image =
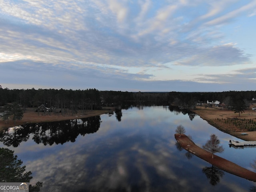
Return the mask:
<path fill-rule="evenodd" d="M 255 90 L 256 0 L 0 0 L 9 89 Z"/>

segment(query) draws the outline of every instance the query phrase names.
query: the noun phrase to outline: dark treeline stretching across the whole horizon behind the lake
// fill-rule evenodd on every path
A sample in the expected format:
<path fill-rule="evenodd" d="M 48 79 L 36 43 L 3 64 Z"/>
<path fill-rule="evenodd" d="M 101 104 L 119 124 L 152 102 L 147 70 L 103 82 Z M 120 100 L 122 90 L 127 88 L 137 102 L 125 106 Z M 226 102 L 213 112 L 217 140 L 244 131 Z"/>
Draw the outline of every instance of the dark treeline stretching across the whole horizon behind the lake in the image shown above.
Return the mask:
<path fill-rule="evenodd" d="M 168 104 L 193 105 L 195 102 L 218 100 L 226 104 L 236 100 L 252 101 L 256 91 L 226 91 L 226 92 L 122 92 L 99 91 L 96 89 L 65 90 L 65 89 L 13 89 L 0 88 L 0 106 L 16 102 L 24 108 L 37 108 L 40 105 L 56 108 L 84 109 L 100 106 L 116 106 L 122 102 L 166 102 Z"/>

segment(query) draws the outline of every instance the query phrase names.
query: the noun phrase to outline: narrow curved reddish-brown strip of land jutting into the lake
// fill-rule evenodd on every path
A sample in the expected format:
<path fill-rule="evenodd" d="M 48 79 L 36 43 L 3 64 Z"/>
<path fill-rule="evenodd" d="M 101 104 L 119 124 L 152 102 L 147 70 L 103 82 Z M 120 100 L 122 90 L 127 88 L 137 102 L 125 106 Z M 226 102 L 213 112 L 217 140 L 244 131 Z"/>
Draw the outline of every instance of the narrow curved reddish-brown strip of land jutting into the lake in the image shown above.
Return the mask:
<path fill-rule="evenodd" d="M 181 134 L 181 137 L 179 137 L 179 136 L 180 136 L 180 134 L 177 134 L 177 133 L 174 135 L 175 139 L 180 144 L 180 146 L 182 148 L 184 148 L 185 150 L 187 150 L 188 152 L 196 155 L 197 157 L 201 158 L 202 160 L 205 160 L 208 163 L 210 163 L 210 164 L 212 164 L 230 174 L 234 174 L 236 176 L 256 182 L 256 172 L 252 172 L 246 168 L 243 168 L 243 167 L 241 167 L 229 160 L 221 158 L 217 155 L 213 155 L 214 158 L 212 158 L 212 154 L 210 152 L 207 152 L 206 150 L 197 146 L 192 140 L 190 140 L 188 138 L 188 136 L 186 136 L 185 134 Z"/>

